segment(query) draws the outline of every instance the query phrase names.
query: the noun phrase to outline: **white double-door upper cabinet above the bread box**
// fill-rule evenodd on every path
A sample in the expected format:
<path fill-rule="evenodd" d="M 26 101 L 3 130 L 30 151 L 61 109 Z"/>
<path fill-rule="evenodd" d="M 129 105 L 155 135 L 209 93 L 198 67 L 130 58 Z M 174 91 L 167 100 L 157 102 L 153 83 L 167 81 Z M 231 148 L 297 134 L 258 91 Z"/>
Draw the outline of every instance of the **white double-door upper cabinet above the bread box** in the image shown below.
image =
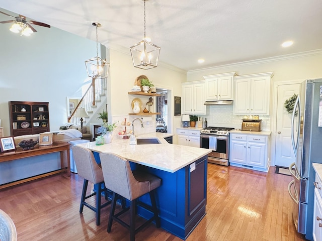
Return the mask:
<path fill-rule="evenodd" d="M 270 114 L 273 73 L 234 77 L 234 114 Z"/>

